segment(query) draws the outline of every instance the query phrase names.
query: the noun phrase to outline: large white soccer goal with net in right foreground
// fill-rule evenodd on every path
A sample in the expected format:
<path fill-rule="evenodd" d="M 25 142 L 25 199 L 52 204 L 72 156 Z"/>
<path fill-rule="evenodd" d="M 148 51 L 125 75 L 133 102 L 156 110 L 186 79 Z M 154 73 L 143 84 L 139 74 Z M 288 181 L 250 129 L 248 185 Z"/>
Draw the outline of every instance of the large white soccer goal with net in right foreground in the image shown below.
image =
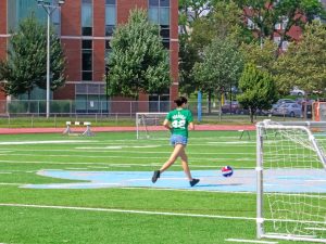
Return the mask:
<path fill-rule="evenodd" d="M 256 125 L 256 235 L 326 243 L 326 123 Z M 325 136 L 326 137 L 326 136 Z"/>

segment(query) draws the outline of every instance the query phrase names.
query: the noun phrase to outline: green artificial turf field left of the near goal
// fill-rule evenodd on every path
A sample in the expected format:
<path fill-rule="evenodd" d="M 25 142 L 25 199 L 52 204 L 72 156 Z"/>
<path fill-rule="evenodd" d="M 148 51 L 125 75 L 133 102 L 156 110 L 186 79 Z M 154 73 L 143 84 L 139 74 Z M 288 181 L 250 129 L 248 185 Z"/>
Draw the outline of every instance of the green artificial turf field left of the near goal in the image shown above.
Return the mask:
<path fill-rule="evenodd" d="M 206 244 L 255 240 L 255 193 L 162 189 L 155 184 L 21 188 L 75 182 L 37 175 L 49 169 L 117 175 L 148 171 L 151 177 L 172 151 L 168 134 L 161 133 L 151 140 L 136 140 L 135 132 L 95 137 L 1 134 L 0 243 Z M 216 178 L 222 178 L 220 168 L 225 165 L 233 166 L 235 174 L 238 169 L 253 169 L 254 132 L 251 140 L 240 140 L 239 136 L 238 131 L 191 131 L 187 146 L 191 170 L 216 170 Z M 179 160 L 170 170 L 181 170 Z"/>

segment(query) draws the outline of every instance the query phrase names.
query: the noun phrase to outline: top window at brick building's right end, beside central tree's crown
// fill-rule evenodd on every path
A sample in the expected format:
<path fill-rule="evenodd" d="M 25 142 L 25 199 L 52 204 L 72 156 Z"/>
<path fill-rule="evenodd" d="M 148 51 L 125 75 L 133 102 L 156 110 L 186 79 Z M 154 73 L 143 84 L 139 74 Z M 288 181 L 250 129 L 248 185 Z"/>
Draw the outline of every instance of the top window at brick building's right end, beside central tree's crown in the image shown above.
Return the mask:
<path fill-rule="evenodd" d="M 170 0 L 149 0 L 148 17 L 160 26 L 164 48 L 170 49 Z"/>

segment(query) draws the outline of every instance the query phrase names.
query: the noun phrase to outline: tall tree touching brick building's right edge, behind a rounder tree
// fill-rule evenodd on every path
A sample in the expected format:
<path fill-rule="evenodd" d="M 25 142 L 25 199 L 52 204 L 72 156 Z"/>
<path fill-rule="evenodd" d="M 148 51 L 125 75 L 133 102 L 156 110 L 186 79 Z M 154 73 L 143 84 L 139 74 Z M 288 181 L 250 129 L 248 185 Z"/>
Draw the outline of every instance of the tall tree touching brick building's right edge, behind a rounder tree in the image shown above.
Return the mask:
<path fill-rule="evenodd" d="M 187 1 L 189 3 L 189 1 Z M 190 1 L 193 3 L 193 1 Z M 189 8 L 192 9 L 192 5 Z M 244 41 L 249 35 L 244 35 L 248 29 L 241 25 L 242 11 L 233 2 L 218 1 L 216 3 L 204 2 L 198 3 L 197 8 L 205 10 L 206 13 L 195 14 L 196 18 L 191 20 L 189 26 L 191 31 L 188 35 L 180 35 L 180 82 L 179 88 L 185 93 L 192 93 L 198 88 L 198 81 L 193 79 L 192 68 L 196 62 L 201 62 L 201 53 L 212 40 L 220 38 L 229 38 L 240 43 Z M 210 10 L 210 11 L 208 11 Z M 252 37 L 250 33 L 250 37 Z"/>

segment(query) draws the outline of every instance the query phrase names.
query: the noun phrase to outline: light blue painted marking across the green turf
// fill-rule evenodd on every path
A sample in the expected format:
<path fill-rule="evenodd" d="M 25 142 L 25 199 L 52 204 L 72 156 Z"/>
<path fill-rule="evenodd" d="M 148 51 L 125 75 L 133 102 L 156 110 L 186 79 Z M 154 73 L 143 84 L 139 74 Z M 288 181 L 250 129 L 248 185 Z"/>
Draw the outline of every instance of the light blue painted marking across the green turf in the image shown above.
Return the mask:
<path fill-rule="evenodd" d="M 308 174 L 309 172 L 309 174 Z M 161 188 L 192 189 L 222 192 L 255 192 L 253 169 L 236 169 L 225 178 L 220 170 L 192 170 L 200 182 L 190 188 L 184 171 L 165 171 L 156 183 L 151 182 L 152 171 L 73 171 L 40 170 L 39 176 L 76 180 L 72 183 L 25 184 L 32 189 L 100 189 L 100 188 Z M 326 171 L 323 169 L 265 170 L 264 190 L 267 192 L 323 192 L 326 193 Z M 86 181 L 86 182 L 85 182 Z"/>

